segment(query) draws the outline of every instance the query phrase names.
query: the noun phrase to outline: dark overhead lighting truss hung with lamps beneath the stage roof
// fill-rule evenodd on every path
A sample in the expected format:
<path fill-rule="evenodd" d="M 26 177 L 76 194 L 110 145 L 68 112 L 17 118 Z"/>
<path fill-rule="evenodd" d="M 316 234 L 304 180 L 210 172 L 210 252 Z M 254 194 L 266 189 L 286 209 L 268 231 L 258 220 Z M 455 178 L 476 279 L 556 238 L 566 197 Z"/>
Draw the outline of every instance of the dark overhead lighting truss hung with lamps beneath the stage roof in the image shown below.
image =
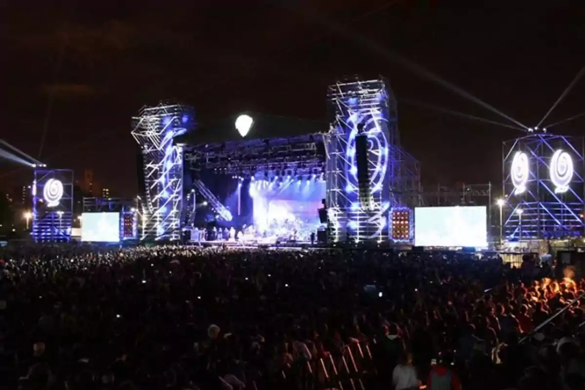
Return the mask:
<path fill-rule="evenodd" d="M 185 149 L 192 170 L 212 170 L 243 178 L 321 174 L 323 134 L 205 144 Z"/>

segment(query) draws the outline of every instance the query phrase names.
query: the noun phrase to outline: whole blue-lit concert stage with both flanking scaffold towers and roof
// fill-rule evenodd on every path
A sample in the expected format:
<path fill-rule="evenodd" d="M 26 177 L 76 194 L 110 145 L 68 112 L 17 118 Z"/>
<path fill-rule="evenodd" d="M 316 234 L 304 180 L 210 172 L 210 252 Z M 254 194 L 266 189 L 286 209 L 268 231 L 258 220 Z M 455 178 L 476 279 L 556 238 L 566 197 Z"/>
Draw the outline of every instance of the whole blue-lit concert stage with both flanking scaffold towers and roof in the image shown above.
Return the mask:
<path fill-rule="evenodd" d="M 329 122 L 246 113 L 202 129 L 187 106 L 143 108 L 132 131 L 140 238 L 177 241 L 197 227 L 258 241 L 412 241 L 405 213 L 420 171 L 400 147 L 390 85 L 356 77 L 331 85 L 328 100 Z"/>

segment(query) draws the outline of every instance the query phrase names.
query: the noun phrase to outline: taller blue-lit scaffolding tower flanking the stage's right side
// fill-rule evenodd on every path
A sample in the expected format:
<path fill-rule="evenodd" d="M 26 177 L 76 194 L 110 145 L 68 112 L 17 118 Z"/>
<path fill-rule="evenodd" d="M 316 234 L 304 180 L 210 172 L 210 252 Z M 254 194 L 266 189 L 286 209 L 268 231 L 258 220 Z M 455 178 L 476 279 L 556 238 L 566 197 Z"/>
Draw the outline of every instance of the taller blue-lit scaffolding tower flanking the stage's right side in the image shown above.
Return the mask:
<path fill-rule="evenodd" d="M 387 241 L 388 211 L 397 200 L 390 187 L 398 167 L 397 114 L 384 80 L 338 82 L 329 87 L 334 111 L 326 149 L 326 204 L 333 241 Z M 358 194 L 356 136 L 367 136 L 371 199 Z"/>

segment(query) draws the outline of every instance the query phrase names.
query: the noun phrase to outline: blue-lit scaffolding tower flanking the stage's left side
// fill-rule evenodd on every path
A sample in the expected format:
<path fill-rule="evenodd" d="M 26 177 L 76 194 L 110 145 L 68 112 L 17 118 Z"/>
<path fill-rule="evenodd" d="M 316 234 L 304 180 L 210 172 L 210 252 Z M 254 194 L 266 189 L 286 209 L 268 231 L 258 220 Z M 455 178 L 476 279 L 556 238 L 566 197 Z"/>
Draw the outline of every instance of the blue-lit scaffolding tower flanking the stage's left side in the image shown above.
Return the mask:
<path fill-rule="evenodd" d="M 144 198 L 141 240 L 179 240 L 183 212 L 183 146 L 173 139 L 195 128 L 192 108 L 161 102 L 133 118 L 142 147 Z"/>

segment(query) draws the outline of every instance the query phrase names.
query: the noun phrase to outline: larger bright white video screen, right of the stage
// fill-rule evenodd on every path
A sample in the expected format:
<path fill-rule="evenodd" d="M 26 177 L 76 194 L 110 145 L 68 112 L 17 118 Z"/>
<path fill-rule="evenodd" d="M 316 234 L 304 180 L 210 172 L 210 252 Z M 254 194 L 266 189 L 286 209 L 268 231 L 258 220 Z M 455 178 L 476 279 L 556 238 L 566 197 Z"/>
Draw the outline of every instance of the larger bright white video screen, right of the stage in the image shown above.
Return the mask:
<path fill-rule="evenodd" d="M 417 207 L 415 246 L 487 247 L 486 206 Z"/>

